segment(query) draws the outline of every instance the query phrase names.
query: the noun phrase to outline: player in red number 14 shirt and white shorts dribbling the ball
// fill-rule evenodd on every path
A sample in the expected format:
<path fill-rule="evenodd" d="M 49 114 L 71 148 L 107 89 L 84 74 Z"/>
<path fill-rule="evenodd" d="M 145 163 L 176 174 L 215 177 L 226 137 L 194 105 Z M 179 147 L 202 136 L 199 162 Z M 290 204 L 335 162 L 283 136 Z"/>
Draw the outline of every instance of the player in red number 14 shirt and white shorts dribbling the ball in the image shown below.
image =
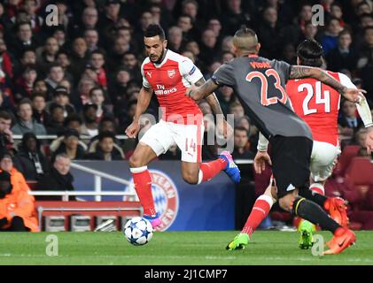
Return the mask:
<path fill-rule="evenodd" d="M 134 120 L 126 129 L 126 134 L 129 138 L 135 138 L 138 134 L 140 116 L 148 108 L 154 92 L 163 116 L 137 144 L 129 159 L 129 167 L 136 193 L 144 207 L 144 218 L 149 219 L 155 227 L 161 225 L 161 220 L 154 207 L 152 178 L 147 164 L 165 153 L 174 143 L 182 151 L 183 180 L 190 184 L 211 180 L 221 171 L 227 172 L 234 182 L 238 182 L 240 174 L 228 151 L 223 151 L 212 162 L 201 163 L 203 115 L 198 104 L 185 96 L 185 91 L 191 84 L 202 85 L 205 82 L 202 73 L 189 58 L 167 50 L 165 33 L 158 25 L 150 25 L 146 29 L 144 45 L 148 57 L 141 66 L 143 88 L 138 96 Z M 209 96 L 206 100 L 215 114 L 222 114 L 216 96 Z M 232 132 L 225 121 L 221 125 L 221 132 L 224 135 Z"/>

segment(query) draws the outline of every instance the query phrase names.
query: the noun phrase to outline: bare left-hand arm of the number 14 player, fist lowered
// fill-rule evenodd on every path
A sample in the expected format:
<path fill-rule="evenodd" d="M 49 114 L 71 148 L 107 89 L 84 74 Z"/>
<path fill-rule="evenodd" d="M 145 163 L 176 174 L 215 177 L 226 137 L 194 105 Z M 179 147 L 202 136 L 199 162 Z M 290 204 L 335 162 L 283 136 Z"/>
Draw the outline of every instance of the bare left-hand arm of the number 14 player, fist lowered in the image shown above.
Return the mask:
<path fill-rule="evenodd" d="M 131 125 L 128 126 L 126 129 L 126 134 L 128 138 L 134 139 L 136 135 L 140 131 L 139 120 L 140 116 L 148 109 L 149 103 L 151 103 L 152 99 L 152 88 L 143 88 L 140 89 L 140 93 L 137 98 L 136 104 L 136 112 L 134 116 L 134 120 L 132 121 Z"/>

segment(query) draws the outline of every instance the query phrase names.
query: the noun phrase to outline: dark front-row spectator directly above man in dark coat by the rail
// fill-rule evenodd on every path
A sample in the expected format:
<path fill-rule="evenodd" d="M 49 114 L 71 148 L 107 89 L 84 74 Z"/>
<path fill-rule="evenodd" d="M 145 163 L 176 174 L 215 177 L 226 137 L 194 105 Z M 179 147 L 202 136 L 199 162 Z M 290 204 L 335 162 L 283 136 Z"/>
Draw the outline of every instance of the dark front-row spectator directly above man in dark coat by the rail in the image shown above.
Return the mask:
<path fill-rule="evenodd" d="M 85 149 L 87 147 L 82 146 L 79 133 L 74 129 L 66 129 L 63 138 L 58 138 L 51 143 L 53 157 L 65 153 L 71 160 L 79 160 L 84 158 Z"/>

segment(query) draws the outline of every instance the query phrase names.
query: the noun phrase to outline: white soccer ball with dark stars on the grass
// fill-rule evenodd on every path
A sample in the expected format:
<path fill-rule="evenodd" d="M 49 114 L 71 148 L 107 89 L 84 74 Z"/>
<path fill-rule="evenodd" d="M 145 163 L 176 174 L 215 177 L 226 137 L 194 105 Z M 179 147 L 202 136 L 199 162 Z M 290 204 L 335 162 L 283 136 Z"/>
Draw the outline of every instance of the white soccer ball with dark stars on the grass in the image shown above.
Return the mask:
<path fill-rule="evenodd" d="M 142 246 L 152 240 L 153 228 L 149 220 L 136 217 L 127 221 L 123 233 L 131 244 Z"/>

